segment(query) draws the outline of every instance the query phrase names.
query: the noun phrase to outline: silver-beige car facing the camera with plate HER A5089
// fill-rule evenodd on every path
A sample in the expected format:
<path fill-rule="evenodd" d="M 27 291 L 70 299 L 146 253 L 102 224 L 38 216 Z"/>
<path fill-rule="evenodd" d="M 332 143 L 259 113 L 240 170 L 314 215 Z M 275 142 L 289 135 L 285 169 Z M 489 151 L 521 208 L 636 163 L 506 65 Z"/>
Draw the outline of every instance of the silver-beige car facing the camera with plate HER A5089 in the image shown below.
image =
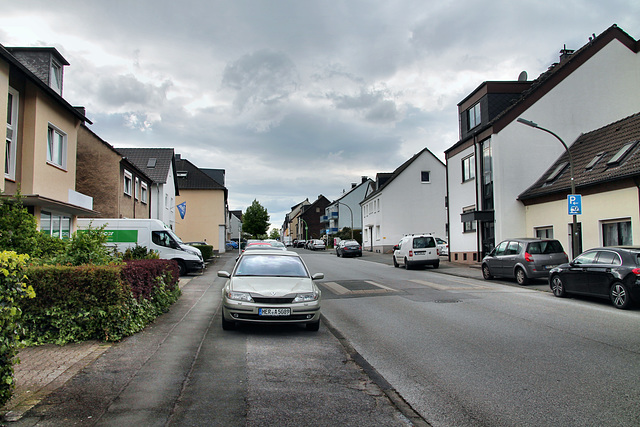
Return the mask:
<path fill-rule="evenodd" d="M 236 322 L 302 323 L 307 330 L 320 327 L 321 292 L 302 258 L 293 251 L 248 251 L 240 256 L 222 289 L 222 329 Z"/>

